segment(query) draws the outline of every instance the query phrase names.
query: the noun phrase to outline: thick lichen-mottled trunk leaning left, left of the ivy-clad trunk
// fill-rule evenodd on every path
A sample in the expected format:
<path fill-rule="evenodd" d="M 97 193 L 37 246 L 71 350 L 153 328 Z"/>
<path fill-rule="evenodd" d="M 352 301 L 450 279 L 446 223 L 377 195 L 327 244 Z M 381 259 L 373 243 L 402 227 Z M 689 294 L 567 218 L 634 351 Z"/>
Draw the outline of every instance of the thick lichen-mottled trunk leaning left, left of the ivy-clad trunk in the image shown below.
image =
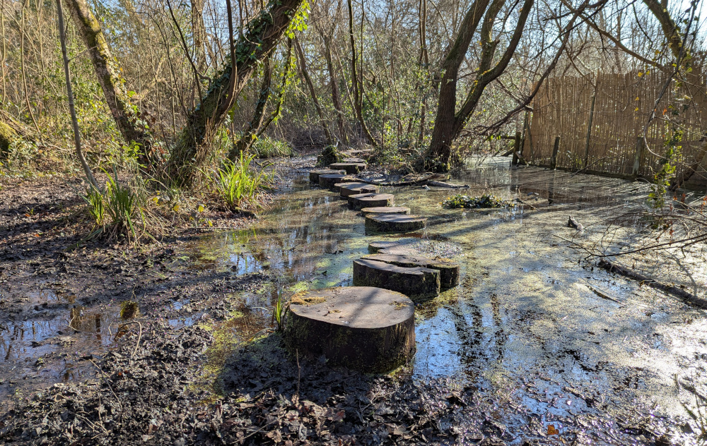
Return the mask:
<path fill-rule="evenodd" d="M 159 157 L 153 151 L 153 139 L 147 129 L 146 116 L 143 116 L 130 102 L 117 67 L 114 65 L 115 62 L 105 40 L 105 35 L 100 29 L 100 23 L 90 11 L 86 0 L 67 0 L 66 4 L 74 19 L 78 34 L 86 43 L 88 54 L 93 63 L 93 70 L 98 78 L 100 88 L 103 89 L 105 101 L 113 119 L 115 119 L 118 130 L 126 143 L 134 142 L 139 146 L 139 162 L 141 166 L 150 169 Z"/>

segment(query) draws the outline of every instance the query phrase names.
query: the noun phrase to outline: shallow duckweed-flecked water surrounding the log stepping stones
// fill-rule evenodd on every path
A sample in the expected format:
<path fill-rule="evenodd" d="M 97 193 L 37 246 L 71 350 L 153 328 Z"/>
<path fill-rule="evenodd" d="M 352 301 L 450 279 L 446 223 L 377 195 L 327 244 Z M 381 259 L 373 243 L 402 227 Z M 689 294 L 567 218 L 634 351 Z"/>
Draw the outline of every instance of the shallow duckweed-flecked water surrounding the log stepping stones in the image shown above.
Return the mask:
<path fill-rule="evenodd" d="M 704 366 L 705 312 L 594 270 L 563 240 L 601 239 L 592 223 L 640 207 L 645 186 L 508 163 L 462 172 L 457 182 L 472 186 L 469 195 L 520 196 L 537 210 L 443 210 L 438 203 L 455 192 L 382 190 L 429 217 L 412 234 L 419 245 L 462 265 L 460 287 L 418 307 L 414 377 L 453 376 L 543 419 L 604 405 L 684 416 L 675 376 Z M 569 214 L 588 228 L 566 227 Z M 367 236 L 363 217 L 303 172 L 254 229 L 204 239 L 197 251 L 234 274 L 274 270 L 277 292 L 291 294 L 350 285 L 352 260 L 370 241 L 400 238 Z M 252 298 L 267 308 L 276 294 Z"/>

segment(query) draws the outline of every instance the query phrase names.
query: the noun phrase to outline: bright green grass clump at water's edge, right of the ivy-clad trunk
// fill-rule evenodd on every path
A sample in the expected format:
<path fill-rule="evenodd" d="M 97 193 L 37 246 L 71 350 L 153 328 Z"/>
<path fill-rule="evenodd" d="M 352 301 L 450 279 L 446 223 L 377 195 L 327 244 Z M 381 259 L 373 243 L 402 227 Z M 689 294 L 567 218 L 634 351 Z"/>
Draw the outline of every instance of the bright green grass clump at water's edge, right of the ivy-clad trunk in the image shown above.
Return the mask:
<path fill-rule="evenodd" d="M 228 159 L 216 169 L 214 191 L 230 209 L 235 210 L 244 202 L 252 202 L 262 188 L 267 186 L 270 176 L 262 171 L 250 169 L 255 155 L 245 157 L 243 152 L 236 162 Z"/>

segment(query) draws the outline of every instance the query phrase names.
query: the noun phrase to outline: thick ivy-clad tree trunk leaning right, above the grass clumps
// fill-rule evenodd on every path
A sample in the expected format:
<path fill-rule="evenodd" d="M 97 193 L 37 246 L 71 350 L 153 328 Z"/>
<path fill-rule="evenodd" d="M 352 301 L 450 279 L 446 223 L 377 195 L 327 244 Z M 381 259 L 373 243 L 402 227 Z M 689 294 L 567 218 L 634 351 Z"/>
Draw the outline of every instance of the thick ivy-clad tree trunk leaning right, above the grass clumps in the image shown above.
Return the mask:
<path fill-rule="evenodd" d="M 207 146 L 216 128 L 221 126 L 258 61 L 267 57 L 288 29 L 303 0 L 273 2 L 247 25 L 246 32 L 235 44 L 235 64 L 228 64 L 211 83 L 201 103 L 187 117 L 187 124 L 175 143 L 167 175 L 177 186 L 189 186 L 204 162 Z M 235 65 L 235 67 L 234 67 Z M 233 73 L 235 68 L 235 73 Z M 231 84 L 231 75 L 236 76 Z"/>

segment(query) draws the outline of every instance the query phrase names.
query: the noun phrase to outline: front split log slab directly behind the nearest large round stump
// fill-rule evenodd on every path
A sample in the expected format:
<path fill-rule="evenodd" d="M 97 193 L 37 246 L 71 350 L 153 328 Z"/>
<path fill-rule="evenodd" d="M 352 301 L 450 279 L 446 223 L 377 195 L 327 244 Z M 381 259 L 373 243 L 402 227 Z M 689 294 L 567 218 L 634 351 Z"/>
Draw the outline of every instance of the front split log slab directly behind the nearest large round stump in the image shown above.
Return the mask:
<path fill-rule="evenodd" d="M 440 272 L 426 267 L 402 267 L 360 258 L 354 260 L 354 285 L 398 291 L 413 301 L 440 294 Z"/>

